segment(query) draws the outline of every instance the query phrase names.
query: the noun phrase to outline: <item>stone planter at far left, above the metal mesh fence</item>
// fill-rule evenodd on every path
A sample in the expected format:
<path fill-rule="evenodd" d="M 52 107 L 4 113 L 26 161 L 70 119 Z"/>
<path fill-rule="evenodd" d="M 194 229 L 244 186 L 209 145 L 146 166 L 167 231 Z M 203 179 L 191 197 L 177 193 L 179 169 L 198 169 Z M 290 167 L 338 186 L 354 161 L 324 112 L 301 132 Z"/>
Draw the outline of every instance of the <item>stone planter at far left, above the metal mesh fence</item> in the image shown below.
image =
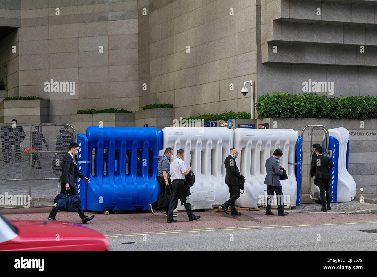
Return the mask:
<path fill-rule="evenodd" d="M 0 123 L 49 123 L 49 100 L 11 100 L 0 102 Z"/>

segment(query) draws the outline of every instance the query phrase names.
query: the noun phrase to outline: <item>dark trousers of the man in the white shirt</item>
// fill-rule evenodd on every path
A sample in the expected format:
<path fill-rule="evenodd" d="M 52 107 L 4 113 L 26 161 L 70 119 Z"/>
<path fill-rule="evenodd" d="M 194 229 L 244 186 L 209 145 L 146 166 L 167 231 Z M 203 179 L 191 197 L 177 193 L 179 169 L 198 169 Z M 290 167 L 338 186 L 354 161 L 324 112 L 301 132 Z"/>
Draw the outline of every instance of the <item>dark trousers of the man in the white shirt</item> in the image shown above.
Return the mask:
<path fill-rule="evenodd" d="M 173 221 L 173 210 L 178 207 L 178 199 L 181 199 L 183 201 L 183 205 L 185 206 L 189 219 L 193 219 L 194 215 L 191 211 L 190 198 L 187 194 L 185 181 L 183 179 L 173 180 L 172 190 L 173 193 L 172 198 L 170 199 L 169 211 L 167 212 L 167 220 Z"/>

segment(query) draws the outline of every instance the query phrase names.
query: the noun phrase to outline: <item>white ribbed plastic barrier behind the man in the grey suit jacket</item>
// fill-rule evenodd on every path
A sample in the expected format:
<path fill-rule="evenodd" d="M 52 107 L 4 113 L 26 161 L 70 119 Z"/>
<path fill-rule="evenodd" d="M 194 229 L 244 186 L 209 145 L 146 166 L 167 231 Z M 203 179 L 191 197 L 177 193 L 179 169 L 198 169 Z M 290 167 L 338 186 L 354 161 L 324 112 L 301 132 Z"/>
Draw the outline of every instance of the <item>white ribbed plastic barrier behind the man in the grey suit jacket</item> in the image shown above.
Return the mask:
<path fill-rule="evenodd" d="M 271 157 L 276 148 L 280 148 L 283 157 L 280 166 L 287 169 L 287 180 L 282 180 L 284 204 L 289 199 L 293 207 L 297 199 L 297 181 L 295 166 L 288 164 L 295 162 L 298 131 L 293 129 L 244 129 L 234 130 L 234 148 L 239 151 L 236 164 L 241 174 L 245 176 L 245 193 L 236 201 L 240 207 L 257 207 L 261 205 L 261 195 L 264 196 L 267 185 L 265 162 Z M 259 203 L 258 203 L 259 202 Z M 265 203 L 263 198 L 263 203 Z"/>

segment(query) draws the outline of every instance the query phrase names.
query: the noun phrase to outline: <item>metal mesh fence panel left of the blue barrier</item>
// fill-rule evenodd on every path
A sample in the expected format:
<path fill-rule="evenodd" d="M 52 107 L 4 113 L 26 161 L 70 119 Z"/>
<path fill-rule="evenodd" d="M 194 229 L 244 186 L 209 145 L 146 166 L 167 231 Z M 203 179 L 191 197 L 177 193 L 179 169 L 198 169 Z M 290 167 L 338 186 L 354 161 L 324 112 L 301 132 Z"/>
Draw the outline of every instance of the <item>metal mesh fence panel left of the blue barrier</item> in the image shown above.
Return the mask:
<path fill-rule="evenodd" d="M 0 127 L 0 209 L 53 205 L 60 193 L 61 160 L 75 130 L 66 124 Z"/>

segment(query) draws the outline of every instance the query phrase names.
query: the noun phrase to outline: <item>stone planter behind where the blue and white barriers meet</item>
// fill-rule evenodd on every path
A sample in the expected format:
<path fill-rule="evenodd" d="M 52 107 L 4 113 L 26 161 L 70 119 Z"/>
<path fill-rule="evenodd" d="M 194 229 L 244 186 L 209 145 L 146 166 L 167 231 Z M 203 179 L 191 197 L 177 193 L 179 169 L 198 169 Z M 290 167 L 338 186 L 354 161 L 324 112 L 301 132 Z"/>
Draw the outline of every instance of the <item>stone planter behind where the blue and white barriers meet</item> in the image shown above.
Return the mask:
<path fill-rule="evenodd" d="M 136 111 L 136 127 L 148 127 L 163 129 L 170 127 L 174 120 L 174 108 L 155 108 L 149 110 Z"/>

